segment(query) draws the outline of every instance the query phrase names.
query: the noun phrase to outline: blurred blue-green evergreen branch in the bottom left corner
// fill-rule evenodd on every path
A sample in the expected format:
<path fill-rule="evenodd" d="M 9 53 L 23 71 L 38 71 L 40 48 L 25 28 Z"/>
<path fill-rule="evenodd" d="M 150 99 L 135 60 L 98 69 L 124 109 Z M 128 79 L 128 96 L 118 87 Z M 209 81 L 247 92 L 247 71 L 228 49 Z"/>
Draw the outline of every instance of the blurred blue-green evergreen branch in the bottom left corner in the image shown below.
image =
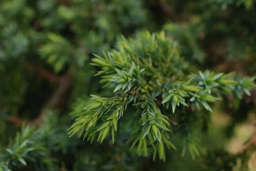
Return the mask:
<path fill-rule="evenodd" d="M 74 152 L 80 143 L 79 139 L 67 136 L 66 122 L 66 118 L 50 112 L 44 118 L 44 127 L 35 129 L 23 124 L 20 132 L 9 140 L 9 145 L 0 148 L 0 169 L 58 170 L 58 161 L 51 155 Z"/>

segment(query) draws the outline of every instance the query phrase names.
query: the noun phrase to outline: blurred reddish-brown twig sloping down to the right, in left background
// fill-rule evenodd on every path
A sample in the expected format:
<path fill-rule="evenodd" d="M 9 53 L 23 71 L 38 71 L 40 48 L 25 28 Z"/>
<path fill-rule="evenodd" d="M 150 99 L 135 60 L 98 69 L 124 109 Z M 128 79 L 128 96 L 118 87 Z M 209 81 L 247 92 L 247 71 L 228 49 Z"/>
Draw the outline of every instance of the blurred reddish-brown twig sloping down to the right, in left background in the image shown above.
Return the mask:
<path fill-rule="evenodd" d="M 47 79 L 47 80 L 52 81 L 52 82 L 58 83 L 61 79 L 58 75 L 54 75 L 51 72 L 48 72 L 46 70 L 37 68 L 34 65 L 29 64 L 29 63 L 25 64 L 25 68 L 27 70 L 32 71 L 32 72 L 36 72 L 41 78 Z"/>

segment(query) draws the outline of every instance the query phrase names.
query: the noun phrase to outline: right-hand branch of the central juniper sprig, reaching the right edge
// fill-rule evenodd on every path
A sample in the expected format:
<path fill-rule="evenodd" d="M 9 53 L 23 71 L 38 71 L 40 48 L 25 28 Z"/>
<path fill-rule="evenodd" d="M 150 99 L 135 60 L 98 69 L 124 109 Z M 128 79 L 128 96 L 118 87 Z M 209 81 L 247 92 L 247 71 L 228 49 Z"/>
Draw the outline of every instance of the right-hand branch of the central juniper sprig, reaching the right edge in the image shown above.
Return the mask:
<path fill-rule="evenodd" d="M 234 92 L 240 99 L 243 93 L 250 96 L 250 89 L 255 87 L 253 83 L 255 78 L 238 78 L 234 77 L 234 73 L 214 73 L 208 70 L 204 73 L 199 72 L 198 75 L 192 74 L 192 79 L 188 81 L 170 81 L 164 83 L 158 81 L 158 85 L 163 89 L 162 104 L 167 109 L 172 106 L 172 112 L 175 112 L 176 106 L 183 104 L 194 104 L 198 108 L 202 105 L 205 109 L 212 112 L 209 102 L 220 100 L 215 97 L 221 96 L 221 91 L 225 93 Z M 223 94 L 223 93 L 222 93 Z"/>

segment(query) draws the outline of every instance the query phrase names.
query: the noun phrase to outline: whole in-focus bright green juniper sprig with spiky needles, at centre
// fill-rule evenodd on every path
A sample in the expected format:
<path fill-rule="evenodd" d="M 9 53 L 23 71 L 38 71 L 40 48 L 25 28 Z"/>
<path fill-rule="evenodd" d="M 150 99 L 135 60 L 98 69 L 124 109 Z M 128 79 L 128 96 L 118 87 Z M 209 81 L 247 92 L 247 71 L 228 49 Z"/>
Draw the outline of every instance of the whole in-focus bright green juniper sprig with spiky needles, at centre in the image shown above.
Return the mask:
<path fill-rule="evenodd" d="M 92 95 L 93 102 L 84 107 L 70 127 L 70 136 L 80 131 L 84 139 L 92 142 L 98 136 L 102 142 L 111 134 L 114 142 L 119 119 L 127 107 L 134 107 L 137 112 L 128 140 L 132 142 L 130 149 L 136 147 L 138 155 L 146 156 L 150 148 L 154 158 L 158 153 L 165 160 L 165 148 L 175 149 L 172 134 L 179 133 L 173 131 L 169 118 L 190 111 L 191 105 L 198 111 L 212 112 L 210 103 L 220 100 L 223 94 L 235 91 L 241 97 L 255 86 L 254 78 L 238 82 L 234 73 L 197 72 L 180 57 L 177 42 L 166 38 L 164 32 L 138 32 L 136 39 L 122 38 L 117 45 L 118 50 L 93 59 L 93 65 L 101 67 L 96 75 L 102 75 L 104 87 L 113 87 L 114 97 Z M 198 154 L 195 145 L 188 146 L 191 154 Z"/>

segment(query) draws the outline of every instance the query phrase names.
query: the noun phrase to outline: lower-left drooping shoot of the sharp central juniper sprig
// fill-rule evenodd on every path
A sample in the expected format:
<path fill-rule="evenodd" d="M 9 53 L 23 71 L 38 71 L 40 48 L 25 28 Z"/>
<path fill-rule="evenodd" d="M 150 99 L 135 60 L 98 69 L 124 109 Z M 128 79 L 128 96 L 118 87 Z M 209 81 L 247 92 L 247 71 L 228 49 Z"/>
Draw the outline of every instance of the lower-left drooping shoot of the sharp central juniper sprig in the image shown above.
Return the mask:
<path fill-rule="evenodd" d="M 93 142 L 96 133 L 100 131 L 97 141 L 102 142 L 111 131 L 114 143 L 114 131 L 117 131 L 118 120 L 123 116 L 130 95 L 126 93 L 112 98 L 91 96 L 94 101 L 84 107 L 84 112 L 77 115 L 78 118 L 69 128 L 68 134 L 73 136 L 80 131 L 81 136 L 85 130 L 83 139 L 88 137 L 87 140 L 91 139 Z"/>

